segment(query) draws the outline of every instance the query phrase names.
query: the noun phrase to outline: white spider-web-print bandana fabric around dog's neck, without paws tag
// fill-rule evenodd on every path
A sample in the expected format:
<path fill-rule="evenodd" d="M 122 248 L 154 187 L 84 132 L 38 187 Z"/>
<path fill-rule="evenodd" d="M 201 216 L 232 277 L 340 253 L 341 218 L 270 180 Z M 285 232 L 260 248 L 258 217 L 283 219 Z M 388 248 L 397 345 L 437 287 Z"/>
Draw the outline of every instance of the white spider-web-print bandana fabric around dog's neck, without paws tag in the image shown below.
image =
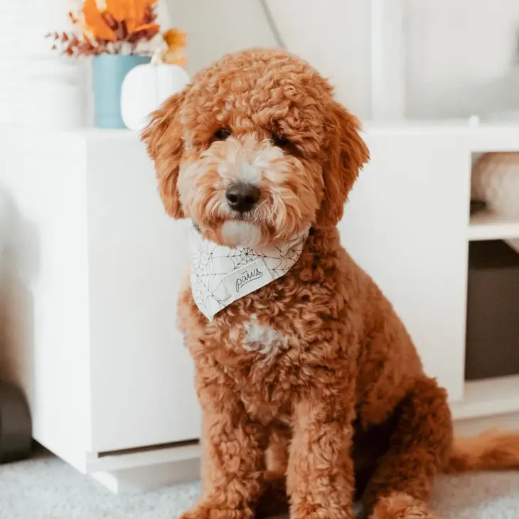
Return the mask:
<path fill-rule="evenodd" d="M 286 274 L 299 259 L 306 243 L 306 232 L 279 247 L 255 250 L 250 247 L 225 247 L 205 240 L 193 225 L 190 240 L 191 290 L 198 308 L 212 317 L 235 299 L 223 280 L 228 274 L 256 260 L 263 260 L 273 279 Z"/>

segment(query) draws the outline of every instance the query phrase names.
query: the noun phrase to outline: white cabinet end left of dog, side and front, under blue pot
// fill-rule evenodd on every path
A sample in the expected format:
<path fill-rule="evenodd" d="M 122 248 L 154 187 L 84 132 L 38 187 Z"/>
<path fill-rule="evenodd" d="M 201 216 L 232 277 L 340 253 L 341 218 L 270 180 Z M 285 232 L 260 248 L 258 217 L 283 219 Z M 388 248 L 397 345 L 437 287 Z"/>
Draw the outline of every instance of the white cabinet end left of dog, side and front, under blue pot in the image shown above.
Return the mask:
<path fill-rule="evenodd" d="M 164 213 L 135 134 L 11 137 L 1 181 L 16 231 L 4 290 L 18 308 L 5 319 L 33 436 L 82 471 L 146 464 L 139 451 L 156 446 L 175 459 L 200 431 L 176 330 L 188 223 Z"/>

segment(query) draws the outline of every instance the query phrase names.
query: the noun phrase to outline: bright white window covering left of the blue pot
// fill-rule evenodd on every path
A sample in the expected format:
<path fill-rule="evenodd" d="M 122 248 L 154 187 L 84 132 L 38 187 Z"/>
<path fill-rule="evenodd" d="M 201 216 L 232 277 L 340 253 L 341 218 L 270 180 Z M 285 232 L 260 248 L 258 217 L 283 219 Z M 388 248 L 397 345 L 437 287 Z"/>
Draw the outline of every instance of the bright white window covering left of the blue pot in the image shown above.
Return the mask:
<path fill-rule="evenodd" d="M 0 1 L 0 120 L 4 127 L 74 127 L 85 104 L 82 66 L 50 50 L 77 0 Z"/>

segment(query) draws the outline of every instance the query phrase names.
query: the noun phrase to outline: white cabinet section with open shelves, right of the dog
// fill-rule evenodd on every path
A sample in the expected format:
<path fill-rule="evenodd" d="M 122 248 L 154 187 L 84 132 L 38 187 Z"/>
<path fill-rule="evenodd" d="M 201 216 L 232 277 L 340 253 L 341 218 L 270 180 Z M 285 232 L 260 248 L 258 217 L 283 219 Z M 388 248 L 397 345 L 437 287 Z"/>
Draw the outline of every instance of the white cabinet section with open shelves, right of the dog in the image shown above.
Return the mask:
<path fill-rule="evenodd" d="M 364 138 L 372 160 L 339 225 L 343 245 L 394 304 L 427 373 L 449 390 L 459 431 L 517 428 L 519 374 L 466 382 L 464 371 L 469 242 L 519 238 L 519 220 L 470 218 L 472 159 L 518 151 L 519 125 L 366 124 Z"/>

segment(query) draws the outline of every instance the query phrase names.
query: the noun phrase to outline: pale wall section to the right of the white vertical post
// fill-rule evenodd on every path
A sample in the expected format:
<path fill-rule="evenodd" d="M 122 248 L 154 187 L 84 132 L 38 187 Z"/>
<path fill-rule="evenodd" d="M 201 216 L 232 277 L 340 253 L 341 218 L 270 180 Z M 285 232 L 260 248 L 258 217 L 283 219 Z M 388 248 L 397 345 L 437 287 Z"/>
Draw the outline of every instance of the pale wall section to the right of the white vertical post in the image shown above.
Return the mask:
<path fill-rule="evenodd" d="M 407 110 L 519 109 L 518 0 L 407 0 Z"/>

